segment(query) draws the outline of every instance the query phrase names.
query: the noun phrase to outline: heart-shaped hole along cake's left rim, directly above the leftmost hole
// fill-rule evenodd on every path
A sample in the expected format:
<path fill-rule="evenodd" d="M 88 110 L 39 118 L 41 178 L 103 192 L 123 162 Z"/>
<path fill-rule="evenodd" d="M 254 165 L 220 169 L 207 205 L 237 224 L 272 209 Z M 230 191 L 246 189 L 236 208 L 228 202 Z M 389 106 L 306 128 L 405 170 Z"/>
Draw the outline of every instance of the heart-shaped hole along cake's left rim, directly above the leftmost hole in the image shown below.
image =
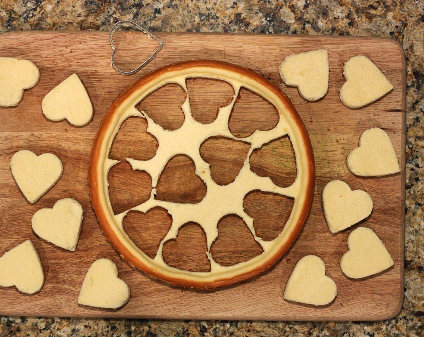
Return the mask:
<path fill-rule="evenodd" d="M 147 120 L 129 117 L 121 124 L 112 142 L 109 158 L 125 162 L 126 158 L 152 159 L 158 148 L 157 139 L 147 132 Z"/>

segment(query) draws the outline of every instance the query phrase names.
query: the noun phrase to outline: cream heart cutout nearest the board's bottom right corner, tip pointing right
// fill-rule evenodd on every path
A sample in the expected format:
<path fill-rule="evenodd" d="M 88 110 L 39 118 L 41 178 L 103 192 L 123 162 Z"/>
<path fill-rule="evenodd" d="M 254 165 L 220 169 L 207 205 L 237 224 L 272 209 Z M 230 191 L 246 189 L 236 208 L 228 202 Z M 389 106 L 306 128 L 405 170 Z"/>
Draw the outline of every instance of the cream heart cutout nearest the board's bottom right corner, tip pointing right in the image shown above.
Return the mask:
<path fill-rule="evenodd" d="M 362 279 L 393 266 L 385 245 L 370 228 L 358 227 L 347 238 L 349 250 L 340 260 L 340 269 L 351 279 Z"/>

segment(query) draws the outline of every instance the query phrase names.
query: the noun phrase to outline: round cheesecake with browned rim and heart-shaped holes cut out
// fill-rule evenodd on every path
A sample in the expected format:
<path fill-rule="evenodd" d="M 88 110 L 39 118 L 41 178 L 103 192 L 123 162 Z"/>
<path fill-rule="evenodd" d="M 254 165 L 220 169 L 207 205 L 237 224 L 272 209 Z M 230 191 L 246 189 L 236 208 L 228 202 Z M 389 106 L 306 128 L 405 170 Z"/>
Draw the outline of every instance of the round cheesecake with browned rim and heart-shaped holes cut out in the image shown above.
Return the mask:
<path fill-rule="evenodd" d="M 137 109 L 137 105 L 145 97 L 166 84 L 178 84 L 187 92 L 187 78 L 217 79 L 234 88 L 234 99 L 228 106 L 220 108 L 214 122 L 201 124 L 191 118 L 189 96 L 182 106 L 184 123 L 177 130 L 164 130 L 144 111 Z M 230 132 L 229 115 L 241 88 L 263 97 L 275 107 L 279 118 L 274 128 L 268 131 L 255 130 L 244 138 L 237 138 Z M 122 123 L 134 116 L 147 120 L 147 132 L 156 137 L 159 144 L 155 156 L 148 161 L 127 159 L 133 170 L 145 171 L 151 175 L 153 192 L 148 201 L 114 214 L 109 198 L 108 173 L 119 161 L 109 158 L 110 149 Z M 240 173 L 231 184 L 218 186 L 211 177 L 209 164 L 204 162 L 199 153 L 202 142 L 214 136 L 225 136 L 250 144 L 248 155 L 274 139 L 289 136 L 296 158 L 296 179 L 288 187 L 276 186 L 270 178 L 259 177 L 253 173 L 249 160 L 245 160 Z M 155 198 L 155 188 L 162 170 L 167 161 L 176 154 L 187 155 L 193 160 L 196 173 L 199 173 L 206 185 L 206 195 L 199 203 L 179 204 Z M 310 139 L 290 100 L 276 86 L 255 72 L 220 61 L 197 60 L 171 64 L 140 78 L 123 92 L 107 111 L 95 137 L 89 162 L 92 206 L 101 228 L 120 255 L 131 265 L 157 279 L 198 289 L 213 289 L 246 281 L 274 265 L 293 245 L 304 226 L 312 203 L 314 182 L 315 166 Z M 243 198 L 254 190 L 272 192 L 294 200 L 284 228 L 273 240 L 265 241 L 257 237 L 253 219 L 243 209 Z M 148 212 L 157 206 L 167 210 L 172 217 L 172 226 L 161 241 L 156 256 L 151 258 L 137 247 L 125 232 L 123 219 L 130 211 Z M 273 210 L 270 209 L 269 212 Z M 228 214 L 237 214 L 245 221 L 254 240 L 262 247 L 262 253 L 248 261 L 223 266 L 213 259 L 210 248 L 219 236 L 218 221 Z M 210 262 L 208 272 L 181 270 L 167 265 L 163 259 L 163 245 L 168 240 L 175 239 L 179 228 L 188 222 L 198 223 L 206 234 L 206 255 Z M 234 237 L 234 242 L 237 242 L 237 237 Z"/>

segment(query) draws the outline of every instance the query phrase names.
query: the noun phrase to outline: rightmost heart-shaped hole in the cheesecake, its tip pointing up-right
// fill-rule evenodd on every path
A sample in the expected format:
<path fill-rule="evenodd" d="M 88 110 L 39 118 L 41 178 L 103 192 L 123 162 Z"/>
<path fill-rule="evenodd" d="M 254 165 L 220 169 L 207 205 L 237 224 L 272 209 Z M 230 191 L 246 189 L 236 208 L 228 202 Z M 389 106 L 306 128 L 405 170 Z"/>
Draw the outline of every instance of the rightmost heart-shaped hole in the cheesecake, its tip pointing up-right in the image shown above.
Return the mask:
<path fill-rule="evenodd" d="M 290 186 L 296 180 L 296 156 L 289 136 L 274 139 L 253 150 L 249 162 L 253 173 L 270 177 L 279 187 Z"/>

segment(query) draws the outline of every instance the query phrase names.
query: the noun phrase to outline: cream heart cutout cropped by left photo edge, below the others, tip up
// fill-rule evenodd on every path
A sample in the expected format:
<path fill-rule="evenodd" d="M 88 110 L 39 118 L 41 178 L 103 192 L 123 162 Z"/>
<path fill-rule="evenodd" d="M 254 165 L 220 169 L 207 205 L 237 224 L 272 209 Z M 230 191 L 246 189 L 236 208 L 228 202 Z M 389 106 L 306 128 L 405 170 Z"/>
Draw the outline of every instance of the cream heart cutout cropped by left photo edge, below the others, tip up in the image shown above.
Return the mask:
<path fill-rule="evenodd" d="M 31 240 L 26 240 L 0 257 L 0 286 L 15 286 L 33 294 L 44 284 L 44 272 Z"/>

